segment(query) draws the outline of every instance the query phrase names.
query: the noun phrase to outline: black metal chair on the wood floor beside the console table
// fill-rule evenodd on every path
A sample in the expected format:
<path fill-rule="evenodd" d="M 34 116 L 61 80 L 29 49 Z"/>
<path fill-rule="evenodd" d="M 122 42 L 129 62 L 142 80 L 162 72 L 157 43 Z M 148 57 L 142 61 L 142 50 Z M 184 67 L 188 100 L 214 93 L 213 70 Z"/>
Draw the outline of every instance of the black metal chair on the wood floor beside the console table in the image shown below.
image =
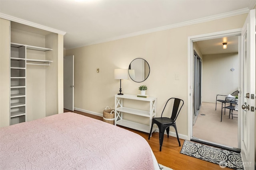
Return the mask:
<path fill-rule="evenodd" d="M 171 118 L 162 117 L 163 113 L 164 113 L 164 109 L 165 109 L 166 105 L 168 104 L 168 102 L 173 103 Z M 179 146 L 180 146 L 180 139 L 179 139 L 178 131 L 177 131 L 177 127 L 176 127 L 176 119 L 177 119 L 177 117 L 180 113 L 180 110 L 181 110 L 183 104 L 184 104 L 184 101 L 181 100 L 181 99 L 170 98 L 170 99 L 167 100 L 167 102 L 164 106 L 161 117 L 154 117 L 152 119 L 152 125 L 151 125 L 151 129 L 150 129 L 150 133 L 148 135 L 148 140 L 150 139 L 150 135 L 152 133 L 153 125 L 154 125 L 154 123 L 156 123 L 156 125 L 158 126 L 158 129 L 159 129 L 160 151 L 162 150 L 162 144 L 163 144 L 163 140 L 164 140 L 164 131 L 166 130 L 167 137 L 169 137 L 170 126 L 174 127 L 174 129 L 176 131 L 178 143 L 179 143 Z"/>

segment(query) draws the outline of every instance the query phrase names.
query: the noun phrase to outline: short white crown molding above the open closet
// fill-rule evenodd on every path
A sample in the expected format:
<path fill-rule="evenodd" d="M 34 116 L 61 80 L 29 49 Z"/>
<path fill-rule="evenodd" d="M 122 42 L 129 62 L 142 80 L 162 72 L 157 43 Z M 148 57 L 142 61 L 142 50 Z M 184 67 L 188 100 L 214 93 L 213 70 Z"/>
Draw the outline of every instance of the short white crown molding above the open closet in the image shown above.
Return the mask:
<path fill-rule="evenodd" d="M 46 31 L 50 31 L 50 32 L 53 32 L 53 33 L 58 33 L 60 35 L 65 35 L 66 34 L 66 32 L 64 32 L 64 31 L 60 31 L 60 30 L 57 30 L 57 29 L 46 27 L 44 25 L 40 25 L 40 24 L 33 23 L 33 22 L 30 22 L 30 21 L 22 20 L 20 18 L 16 18 L 16 17 L 9 16 L 9 15 L 2 14 L 2 13 L 0 13 L 0 18 L 10 20 L 10 21 L 14 21 L 14 22 L 18 22 L 18 23 L 22 23 L 22 24 L 25 24 L 25 25 L 29 25 L 29 26 L 32 26 L 32 27 L 39 28 L 39 29 L 44 29 Z"/>

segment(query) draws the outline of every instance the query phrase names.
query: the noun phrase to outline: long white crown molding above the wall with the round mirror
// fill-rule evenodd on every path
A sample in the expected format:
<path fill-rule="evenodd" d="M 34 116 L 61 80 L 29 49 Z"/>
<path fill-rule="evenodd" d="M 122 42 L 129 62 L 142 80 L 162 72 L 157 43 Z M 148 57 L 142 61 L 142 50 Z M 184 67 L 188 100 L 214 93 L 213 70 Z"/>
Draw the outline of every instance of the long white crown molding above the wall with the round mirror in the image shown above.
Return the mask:
<path fill-rule="evenodd" d="M 114 40 L 118 40 L 118 39 L 134 37 L 134 36 L 137 36 L 137 35 L 143 35 L 143 34 L 153 33 L 153 32 L 157 32 L 157 31 L 163 31 L 163 30 L 166 30 L 166 29 L 173 29 L 173 28 L 178 28 L 178 27 L 184 27 L 184 26 L 187 26 L 187 25 L 193 25 L 193 24 L 212 21 L 212 20 L 218 20 L 218 19 L 222 19 L 222 18 L 227 18 L 227 17 L 231 17 L 231 16 L 240 15 L 240 14 L 246 14 L 249 11 L 250 11 L 249 8 L 243 8 L 243 9 L 235 10 L 235 11 L 232 11 L 232 12 L 226 12 L 226 13 L 223 13 L 223 14 L 217 14 L 217 15 L 213 15 L 213 16 L 209 16 L 209 17 L 199 18 L 199 19 L 196 19 L 196 20 L 190 20 L 190 21 L 185 21 L 185 22 L 176 23 L 176 24 L 172 24 L 172 25 L 167 25 L 167 26 L 163 26 L 163 27 L 147 29 L 147 30 L 144 30 L 144 31 L 139 31 L 139 32 L 130 33 L 130 34 L 126 34 L 126 35 L 121 35 L 121 36 L 118 36 L 118 37 L 102 39 L 102 40 L 99 40 L 99 41 L 94 41 L 92 43 L 87 43 L 87 44 L 84 44 L 84 45 L 67 48 L 67 50 L 68 49 L 79 48 L 79 47 L 84 47 L 84 46 L 89 46 L 89 45 L 94 45 L 94 44 L 99 44 L 99 43 L 106 43 L 108 41 L 114 41 Z"/>

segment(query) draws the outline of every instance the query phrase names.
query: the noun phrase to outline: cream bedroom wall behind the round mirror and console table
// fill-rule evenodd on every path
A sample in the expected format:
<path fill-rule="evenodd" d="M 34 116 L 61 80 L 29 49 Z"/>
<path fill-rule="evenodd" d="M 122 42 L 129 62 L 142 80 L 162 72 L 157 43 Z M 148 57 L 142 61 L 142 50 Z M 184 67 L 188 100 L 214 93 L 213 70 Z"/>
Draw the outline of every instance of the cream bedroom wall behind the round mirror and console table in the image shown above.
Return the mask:
<path fill-rule="evenodd" d="M 66 55 L 75 57 L 74 106 L 94 113 L 102 113 L 106 106 L 114 107 L 114 94 L 118 93 L 120 86 L 120 80 L 114 80 L 114 69 L 128 68 L 133 59 L 143 58 L 150 65 L 148 79 L 141 83 L 130 78 L 122 80 L 122 92 L 138 94 L 138 86 L 148 86 L 147 94 L 157 97 L 157 116 L 168 98 L 183 99 L 185 104 L 177 119 L 177 128 L 178 133 L 187 135 L 188 37 L 241 28 L 246 16 L 232 16 L 66 50 Z M 99 73 L 96 68 L 100 68 Z M 179 80 L 175 80 L 175 74 L 179 75 Z"/>

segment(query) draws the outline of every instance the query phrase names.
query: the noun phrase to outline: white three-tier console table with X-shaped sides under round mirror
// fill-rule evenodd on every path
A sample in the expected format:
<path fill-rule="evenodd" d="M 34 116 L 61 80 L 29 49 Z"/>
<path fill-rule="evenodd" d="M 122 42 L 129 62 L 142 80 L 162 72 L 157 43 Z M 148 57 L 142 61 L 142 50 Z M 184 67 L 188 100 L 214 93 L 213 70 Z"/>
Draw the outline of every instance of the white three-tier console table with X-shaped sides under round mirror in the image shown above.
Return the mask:
<path fill-rule="evenodd" d="M 123 107 L 123 99 L 135 100 L 134 102 L 136 102 L 136 100 L 150 102 L 149 111 Z M 148 119 L 150 120 L 149 125 L 144 125 L 144 124 L 125 120 L 123 119 L 123 113 L 148 117 Z M 124 94 L 124 95 L 116 94 L 115 95 L 115 125 L 121 125 L 124 127 L 129 127 L 131 129 L 136 129 L 138 131 L 150 133 L 152 118 L 155 117 L 155 115 L 156 115 L 156 97 L 141 98 L 132 94 Z M 153 127 L 152 132 L 154 132 L 155 130 L 156 128 Z"/>

